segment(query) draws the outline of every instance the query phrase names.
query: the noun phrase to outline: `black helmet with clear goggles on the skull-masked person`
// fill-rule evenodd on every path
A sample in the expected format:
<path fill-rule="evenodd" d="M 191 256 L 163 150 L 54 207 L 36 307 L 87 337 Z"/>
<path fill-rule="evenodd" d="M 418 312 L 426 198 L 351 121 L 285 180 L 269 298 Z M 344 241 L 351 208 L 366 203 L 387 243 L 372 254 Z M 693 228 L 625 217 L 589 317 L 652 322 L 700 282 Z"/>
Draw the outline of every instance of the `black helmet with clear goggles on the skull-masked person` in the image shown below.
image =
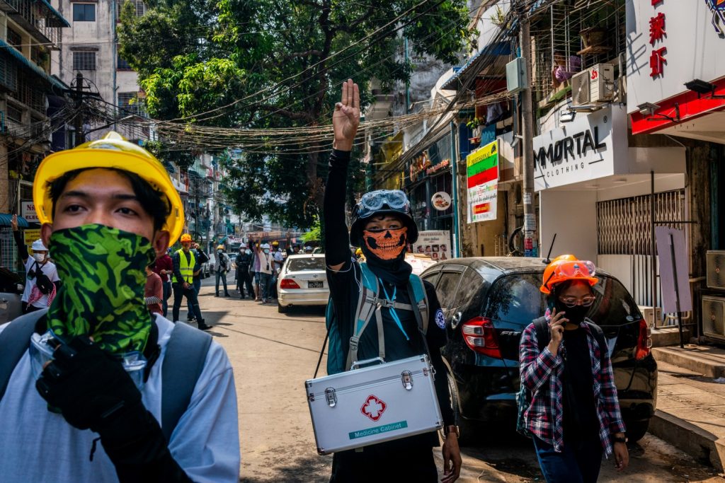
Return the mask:
<path fill-rule="evenodd" d="M 350 244 L 360 246 L 363 230 L 372 217 L 392 214 L 399 217 L 403 226 L 407 227 L 407 243 L 418 240 L 418 225 L 415 224 L 410 211 L 410 201 L 401 190 L 376 190 L 365 193 L 363 198 L 352 209 L 350 224 Z"/>

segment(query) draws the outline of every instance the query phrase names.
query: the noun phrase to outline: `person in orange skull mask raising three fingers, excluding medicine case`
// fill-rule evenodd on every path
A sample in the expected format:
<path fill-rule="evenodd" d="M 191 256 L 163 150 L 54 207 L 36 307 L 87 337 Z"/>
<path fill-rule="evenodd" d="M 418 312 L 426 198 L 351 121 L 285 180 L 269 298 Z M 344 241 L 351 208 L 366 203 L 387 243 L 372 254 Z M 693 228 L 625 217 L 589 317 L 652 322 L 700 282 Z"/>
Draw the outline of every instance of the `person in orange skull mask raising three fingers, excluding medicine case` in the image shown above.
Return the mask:
<path fill-rule="evenodd" d="M 359 122 L 360 93 L 357 84 L 348 80 L 342 88 L 342 100 L 335 106 L 334 145 L 323 205 L 327 277 L 336 314 L 332 320 L 336 324 L 335 331 L 339 333 L 339 342 L 343 345 L 341 351 L 348 354 L 347 341 L 353 333 L 363 268 L 369 269 L 377 277 L 378 296 L 385 297 L 389 302 L 410 304 L 414 300 L 413 293 L 409 293 L 408 289 L 413 268 L 405 262 L 405 250 L 408 243 L 415 243 L 418 238 L 418 227 L 413 220 L 410 203 L 405 193 L 399 190 L 366 193 L 353 210 L 348 235 L 344 211 L 348 164 Z M 383 240 L 386 240 L 384 244 Z M 350 244 L 363 250 L 367 258 L 366 267 L 352 257 Z M 427 346 L 431 364 L 436 369 L 436 395 L 444 424 L 441 481 L 452 483 L 460 474 L 461 458 L 457 427 L 450 408 L 450 390 L 445 377 L 447 369 L 440 353 L 440 348 L 446 343 L 445 322 L 433 285 L 423 283 L 429 314 L 425 335 L 412 309 L 385 306 L 379 309 L 383 333 L 378 332 L 378 324 L 369 324 L 365 328 L 357 343 L 357 360 L 378 357 L 381 340 L 386 361 L 420 356 L 426 353 Z M 392 298 L 388 295 L 392 295 Z M 420 324 L 422 327 L 423 321 Z M 330 332 L 333 333 L 333 329 Z M 332 351 L 333 348 L 328 350 Z M 361 450 L 337 452 L 333 457 L 330 481 L 437 482 L 438 473 L 431 448 L 438 445 L 437 432 L 431 432 L 366 446 Z"/>

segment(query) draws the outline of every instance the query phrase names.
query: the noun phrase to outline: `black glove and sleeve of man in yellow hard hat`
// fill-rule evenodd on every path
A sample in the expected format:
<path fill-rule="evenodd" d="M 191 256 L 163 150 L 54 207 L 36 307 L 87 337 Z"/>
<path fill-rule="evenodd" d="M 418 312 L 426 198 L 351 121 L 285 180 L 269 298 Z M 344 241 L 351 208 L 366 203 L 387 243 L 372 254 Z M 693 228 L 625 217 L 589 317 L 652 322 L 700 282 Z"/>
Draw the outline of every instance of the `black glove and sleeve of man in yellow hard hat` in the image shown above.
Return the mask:
<path fill-rule="evenodd" d="M 99 434 L 121 482 L 191 481 L 123 365 L 88 337 L 59 345 L 36 389 L 71 426 Z"/>

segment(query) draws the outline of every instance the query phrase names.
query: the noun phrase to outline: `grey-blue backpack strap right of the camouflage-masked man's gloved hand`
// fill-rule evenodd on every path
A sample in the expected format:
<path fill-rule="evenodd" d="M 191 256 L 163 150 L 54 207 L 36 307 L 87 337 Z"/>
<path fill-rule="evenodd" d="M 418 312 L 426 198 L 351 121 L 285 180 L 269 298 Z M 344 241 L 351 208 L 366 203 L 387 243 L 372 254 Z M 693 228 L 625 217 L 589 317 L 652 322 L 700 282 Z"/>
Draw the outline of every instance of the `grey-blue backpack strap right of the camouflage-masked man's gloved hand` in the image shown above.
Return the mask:
<path fill-rule="evenodd" d="M 183 322 L 174 325 L 161 367 L 161 429 L 167 442 L 191 403 L 211 344 L 212 336 L 206 332 Z"/>

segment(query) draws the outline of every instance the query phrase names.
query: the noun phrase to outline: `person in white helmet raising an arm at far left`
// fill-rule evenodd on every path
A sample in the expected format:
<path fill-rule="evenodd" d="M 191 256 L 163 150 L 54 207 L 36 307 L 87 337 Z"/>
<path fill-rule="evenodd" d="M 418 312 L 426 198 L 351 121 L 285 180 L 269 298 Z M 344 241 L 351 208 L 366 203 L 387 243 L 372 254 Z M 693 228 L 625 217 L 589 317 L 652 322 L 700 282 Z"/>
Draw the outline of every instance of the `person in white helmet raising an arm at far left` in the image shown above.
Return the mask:
<path fill-rule="evenodd" d="M 25 290 L 22 292 L 22 311 L 27 314 L 41 308 L 48 308 L 60 286 L 60 278 L 55 264 L 48 259 L 48 248 L 43 240 L 36 240 L 30 248 L 33 256 L 28 256 L 28 247 L 22 240 L 17 226 L 17 214 L 10 221 L 12 235 L 17 246 L 17 258 L 25 266 Z"/>

